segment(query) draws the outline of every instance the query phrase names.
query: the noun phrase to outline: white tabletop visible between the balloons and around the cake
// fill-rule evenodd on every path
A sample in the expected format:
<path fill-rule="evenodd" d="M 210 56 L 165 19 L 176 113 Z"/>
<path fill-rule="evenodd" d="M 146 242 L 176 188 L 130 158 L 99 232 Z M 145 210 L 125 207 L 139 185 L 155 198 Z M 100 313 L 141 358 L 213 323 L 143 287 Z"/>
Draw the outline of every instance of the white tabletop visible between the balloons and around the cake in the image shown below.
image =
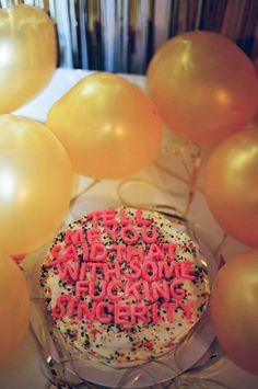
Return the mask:
<path fill-rule="evenodd" d="M 27 105 L 17 110 L 15 114 L 23 115 L 44 122 L 49 107 L 63 93 L 66 93 L 78 80 L 85 77 L 89 72 L 82 70 L 56 70 L 51 81 L 45 90 Z M 144 89 L 144 77 L 124 76 L 140 88 Z M 69 215 L 68 221 L 74 220 L 83 213 L 102 209 L 107 206 L 119 206 L 121 202 L 128 205 L 142 206 L 148 204 L 166 204 L 177 209 L 185 209 L 188 202 L 188 181 L 189 173 L 185 164 L 191 164 L 192 160 L 188 157 L 194 146 L 185 140 L 178 139 L 171 131 L 164 130 L 164 139 L 160 156 L 155 163 L 146 170 L 139 172 L 126 181 L 102 181 L 94 185 L 91 191 L 79 197 L 78 206 Z M 178 153 L 178 150 L 183 150 Z M 202 164 L 209 157 L 210 149 L 202 150 Z M 179 157 L 178 157 L 179 155 Z M 181 163 L 184 159 L 184 163 Z M 173 168 L 172 168 L 173 167 Z M 77 192 L 84 190 L 92 180 L 86 178 L 79 179 Z M 206 242 L 213 252 L 220 245 L 220 252 L 227 260 L 231 255 L 246 250 L 246 248 L 231 238 L 226 238 L 220 244 L 224 231 L 211 216 L 203 195 L 201 193 L 202 170 L 199 172 L 197 186 L 200 191 L 196 192 L 194 202 L 187 215 L 188 220 L 198 236 Z M 209 228 L 207 228 L 209 226 Z M 25 267 L 32 266 L 35 255 L 28 256 Z M 28 330 L 26 337 L 20 350 L 13 355 L 9 363 L 0 368 L 0 389 L 43 389 L 49 386 L 45 374 L 44 364 L 39 353 L 39 345 Z M 258 377 L 238 368 L 233 362 L 223 356 L 214 365 L 198 373 L 198 380 L 202 379 L 202 388 L 231 389 L 255 389 L 258 388 Z M 210 382 L 204 385 L 204 382 Z M 214 382 L 214 384 L 212 384 Z M 220 382 L 215 384 L 215 382 Z M 191 388 L 200 388 L 189 384 Z"/>

